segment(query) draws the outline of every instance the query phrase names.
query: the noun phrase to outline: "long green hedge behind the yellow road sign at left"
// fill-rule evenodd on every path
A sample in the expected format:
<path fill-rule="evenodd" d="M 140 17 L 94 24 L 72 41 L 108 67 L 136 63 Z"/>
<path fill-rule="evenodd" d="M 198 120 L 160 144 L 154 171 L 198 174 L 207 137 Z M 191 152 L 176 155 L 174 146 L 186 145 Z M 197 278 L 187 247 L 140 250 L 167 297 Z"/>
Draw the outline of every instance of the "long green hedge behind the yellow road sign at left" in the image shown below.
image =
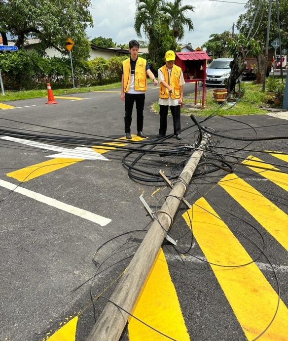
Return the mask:
<path fill-rule="evenodd" d="M 110 59 L 96 57 L 93 60 L 77 60 L 73 63 L 76 85 L 98 85 L 121 80 L 122 61 L 127 56 Z M 7 90 L 54 88 L 72 85 L 69 58 L 45 57 L 36 50 L 21 49 L 17 52 L 0 53 L 0 70 Z"/>

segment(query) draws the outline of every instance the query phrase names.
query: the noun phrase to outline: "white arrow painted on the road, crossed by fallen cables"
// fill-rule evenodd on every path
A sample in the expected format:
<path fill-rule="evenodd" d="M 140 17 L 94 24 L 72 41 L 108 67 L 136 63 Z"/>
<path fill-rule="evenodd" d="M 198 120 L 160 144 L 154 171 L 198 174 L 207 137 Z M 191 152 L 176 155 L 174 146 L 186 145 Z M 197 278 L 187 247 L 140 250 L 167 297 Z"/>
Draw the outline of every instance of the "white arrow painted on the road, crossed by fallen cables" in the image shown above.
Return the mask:
<path fill-rule="evenodd" d="M 60 154 L 55 155 L 47 155 L 46 158 L 68 158 L 68 159 L 83 159 L 83 160 L 103 160 L 109 161 L 105 156 L 100 153 L 97 153 L 92 148 L 87 147 L 76 147 L 74 149 L 69 149 L 65 147 L 58 147 L 51 144 L 41 143 L 37 141 L 25 140 L 23 138 L 11 137 L 11 136 L 2 136 L 0 137 L 3 140 L 18 142 L 21 144 L 26 144 L 28 146 L 41 148 L 45 150 L 53 150 L 55 152 L 60 152 Z"/>

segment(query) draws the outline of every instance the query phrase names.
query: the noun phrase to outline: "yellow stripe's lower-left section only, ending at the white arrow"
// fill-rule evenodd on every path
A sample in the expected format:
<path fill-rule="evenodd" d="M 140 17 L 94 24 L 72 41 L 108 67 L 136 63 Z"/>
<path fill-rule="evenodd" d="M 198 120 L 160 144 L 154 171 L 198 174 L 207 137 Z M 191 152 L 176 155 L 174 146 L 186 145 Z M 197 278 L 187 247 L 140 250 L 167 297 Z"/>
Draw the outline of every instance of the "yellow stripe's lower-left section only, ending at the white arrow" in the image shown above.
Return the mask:
<path fill-rule="evenodd" d="M 41 162 L 39 164 L 21 168 L 17 171 L 11 171 L 6 175 L 13 177 L 18 181 L 29 181 L 38 176 L 50 173 L 51 171 L 57 171 L 61 168 L 75 164 L 76 162 L 82 161 L 83 159 L 65 159 L 65 158 L 55 158 L 48 161 Z"/>

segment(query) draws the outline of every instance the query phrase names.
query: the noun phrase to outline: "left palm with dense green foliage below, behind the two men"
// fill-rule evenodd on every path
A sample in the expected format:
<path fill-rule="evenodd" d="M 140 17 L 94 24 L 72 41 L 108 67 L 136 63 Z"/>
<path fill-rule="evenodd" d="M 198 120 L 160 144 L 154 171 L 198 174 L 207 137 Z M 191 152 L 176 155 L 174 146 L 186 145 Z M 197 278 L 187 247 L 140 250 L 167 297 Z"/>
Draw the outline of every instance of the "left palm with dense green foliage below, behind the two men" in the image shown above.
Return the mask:
<path fill-rule="evenodd" d="M 167 25 L 167 18 L 162 12 L 162 0 L 137 0 L 135 30 L 142 37 L 141 29 L 149 40 L 149 58 L 154 68 L 162 65 L 165 49 L 176 49 L 177 43 L 172 30 Z M 164 52 L 163 52 L 164 51 Z"/>

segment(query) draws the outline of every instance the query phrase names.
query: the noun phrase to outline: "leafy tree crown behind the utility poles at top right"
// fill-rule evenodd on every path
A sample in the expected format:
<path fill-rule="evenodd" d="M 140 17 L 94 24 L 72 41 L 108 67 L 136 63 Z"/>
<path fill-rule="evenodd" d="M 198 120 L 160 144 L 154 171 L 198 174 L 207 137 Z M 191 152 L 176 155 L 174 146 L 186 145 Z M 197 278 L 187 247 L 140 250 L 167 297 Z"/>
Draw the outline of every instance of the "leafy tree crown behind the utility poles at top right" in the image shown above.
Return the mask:
<path fill-rule="evenodd" d="M 250 32 L 250 29 L 252 27 L 252 21 L 254 19 L 258 4 L 258 0 L 248 0 L 245 5 L 246 13 L 241 14 L 237 20 L 236 27 L 238 28 L 239 32 L 244 34 L 244 36 L 246 37 L 248 36 L 248 33 Z M 251 37 L 256 39 L 257 41 L 260 41 L 263 45 L 266 43 L 266 32 L 268 24 L 267 13 L 268 1 L 261 1 L 255 23 L 251 31 Z M 288 31 L 287 13 L 288 1 L 279 1 L 280 31 L 282 34 Z M 276 38 L 278 38 L 276 1 L 272 1 L 269 43 L 271 43 Z M 287 35 L 284 35 L 282 37 L 282 43 L 284 48 L 288 48 Z"/>

